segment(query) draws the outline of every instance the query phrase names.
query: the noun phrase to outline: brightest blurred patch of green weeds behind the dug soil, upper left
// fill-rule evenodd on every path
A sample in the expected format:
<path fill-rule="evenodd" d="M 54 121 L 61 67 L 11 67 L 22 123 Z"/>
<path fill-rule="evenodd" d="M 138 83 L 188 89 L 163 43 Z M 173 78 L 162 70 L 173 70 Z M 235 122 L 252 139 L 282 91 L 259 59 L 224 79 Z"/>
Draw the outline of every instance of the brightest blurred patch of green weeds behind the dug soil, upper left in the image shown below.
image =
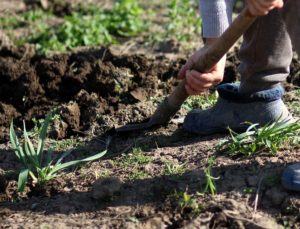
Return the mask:
<path fill-rule="evenodd" d="M 88 5 L 65 16 L 62 24 L 38 24 L 22 42 L 36 44 L 42 52 L 117 43 L 120 37 L 133 37 L 147 29 L 142 14 L 143 8 L 134 0 L 117 1 L 111 10 Z"/>

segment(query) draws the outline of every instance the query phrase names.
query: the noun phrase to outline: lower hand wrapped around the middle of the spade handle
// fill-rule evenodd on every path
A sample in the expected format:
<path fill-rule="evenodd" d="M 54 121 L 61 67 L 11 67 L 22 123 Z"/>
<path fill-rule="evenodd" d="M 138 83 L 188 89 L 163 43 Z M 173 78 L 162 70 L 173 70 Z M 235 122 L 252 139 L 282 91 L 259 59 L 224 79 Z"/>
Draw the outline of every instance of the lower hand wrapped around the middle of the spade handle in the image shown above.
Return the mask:
<path fill-rule="evenodd" d="M 226 63 L 226 55 L 206 73 L 190 70 L 199 56 L 203 55 L 207 46 L 196 51 L 179 71 L 178 78 L 186 78 L 185 89 L 189 95 L 200 95 L 210 87 L 217 85 L 223 80 Z"/>

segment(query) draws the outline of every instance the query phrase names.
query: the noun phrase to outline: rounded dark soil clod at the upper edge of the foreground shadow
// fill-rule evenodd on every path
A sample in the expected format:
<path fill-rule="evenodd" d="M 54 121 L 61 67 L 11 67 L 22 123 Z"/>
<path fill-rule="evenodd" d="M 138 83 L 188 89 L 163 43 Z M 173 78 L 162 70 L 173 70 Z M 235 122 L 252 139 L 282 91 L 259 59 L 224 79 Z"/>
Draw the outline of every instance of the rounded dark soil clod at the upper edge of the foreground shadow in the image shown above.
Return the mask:
<path fill-rule="evenodd" d="M 100 178 L 95 181 L 92 189 L 92 197 L 94 199 L 111 198 L 120 191 L 122 181 L 117 177 Z"/>

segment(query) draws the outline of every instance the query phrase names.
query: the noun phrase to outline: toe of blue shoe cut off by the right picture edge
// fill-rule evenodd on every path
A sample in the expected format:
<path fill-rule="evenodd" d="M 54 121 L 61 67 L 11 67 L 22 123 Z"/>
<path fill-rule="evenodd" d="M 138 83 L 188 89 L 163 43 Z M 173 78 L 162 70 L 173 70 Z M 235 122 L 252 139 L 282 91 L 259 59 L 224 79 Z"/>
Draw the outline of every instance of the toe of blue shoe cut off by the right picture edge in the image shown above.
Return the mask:
<path fill-rule="evenodd" d="M 289 165 L 282 173 L 282 186 L 291 191 L 300 191 L 300 163 Z"/>

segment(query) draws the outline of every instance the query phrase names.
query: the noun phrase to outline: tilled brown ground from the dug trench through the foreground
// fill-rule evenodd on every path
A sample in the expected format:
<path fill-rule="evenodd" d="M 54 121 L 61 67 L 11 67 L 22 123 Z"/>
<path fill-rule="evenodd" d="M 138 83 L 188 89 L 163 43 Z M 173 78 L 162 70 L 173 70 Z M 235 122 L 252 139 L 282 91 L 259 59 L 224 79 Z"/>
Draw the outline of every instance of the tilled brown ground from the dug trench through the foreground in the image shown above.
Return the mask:
<path fill-rule="evenodd" d="M 105 48 L 51 57 L 37 55 L 30 46 L 2 48 L 0 168 L 20 167 L 7 142 L 12 119 L 18 127 L 22 120 L 33 127 L 33 118 L 57 109 L 59 125 L 53 126 L 50 142 L 82 139 L 66 160 L 90 155 L 104 148 L 107 130 L 149 117 L 176 85 L 182 63 L 164 56 L 120 56 Z M 229 55 L 226 81 L 235 80 L 237 63 L 235 53 Z M 299 72 L 294 60 L 288 81 L 299 85 Z M 293 87 L 286 87 L 287 102 L 299 101 Z M 233 159 L 216 153 L 224 137 L 192 136 L 177 124 L 114 135 L 103 160 L 68 170 L 43 190 L 28 185 L 23 194 L 16 192 L 17 177 L 10 172 L 0 179 L 0 227 L 299 227 L 299 195 L 280 185 L 283 168 L 300 161 L 299 150 Z M 133 159 L 137 147 L 146 162 Z M 214 196 L 202 194 L 210 156 L 217 158 Z"/>

